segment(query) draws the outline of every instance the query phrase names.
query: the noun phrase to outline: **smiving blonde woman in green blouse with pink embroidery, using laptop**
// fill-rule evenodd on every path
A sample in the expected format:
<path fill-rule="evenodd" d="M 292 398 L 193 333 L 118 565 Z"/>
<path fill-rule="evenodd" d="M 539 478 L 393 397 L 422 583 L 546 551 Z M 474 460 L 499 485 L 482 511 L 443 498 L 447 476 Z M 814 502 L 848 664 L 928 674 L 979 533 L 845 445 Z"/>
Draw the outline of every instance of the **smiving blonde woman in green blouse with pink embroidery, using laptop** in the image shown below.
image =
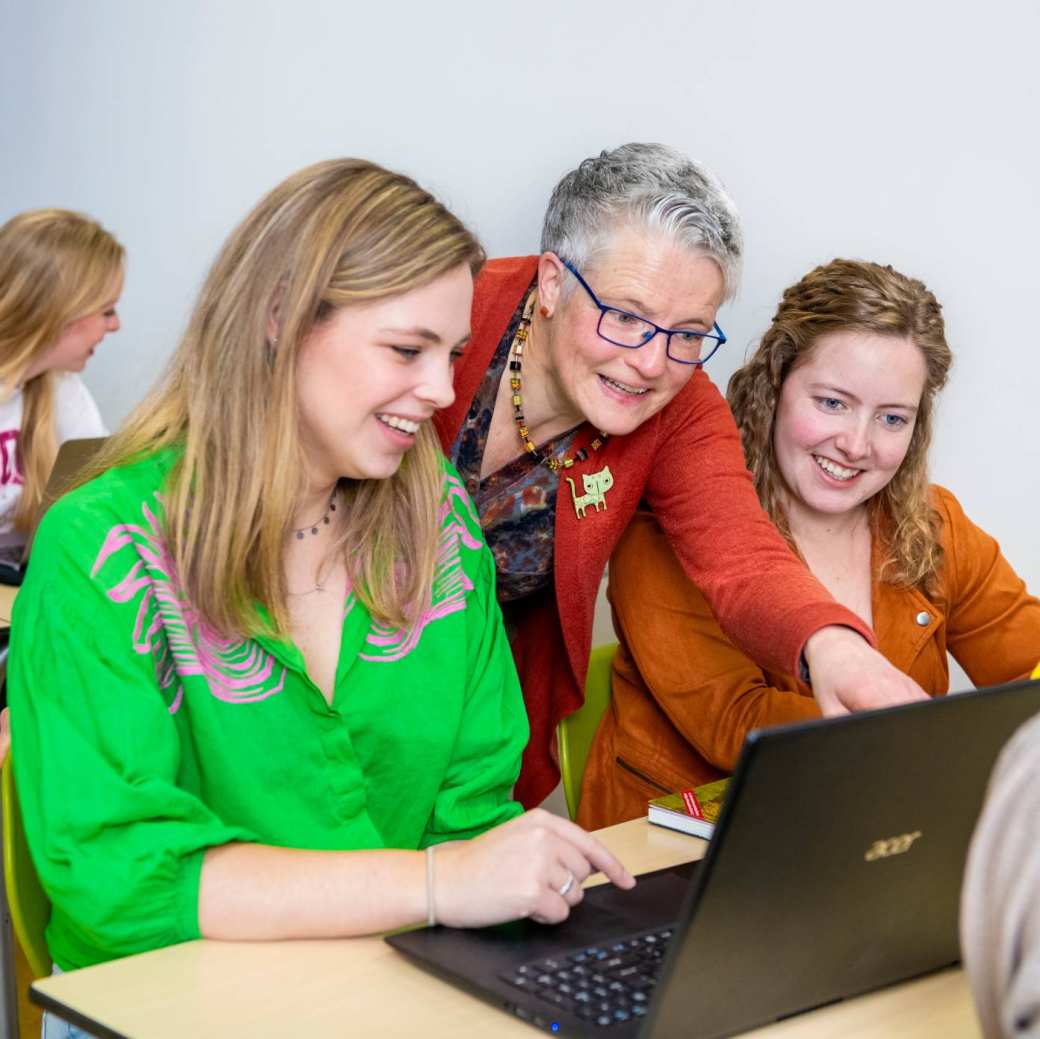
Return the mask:
<path fill-rule="evenodd" d="M 511 799 L 527 722 L 494 561 L 430 421 L 483 261 L 407 177 L 295 174 L 45 517 L 10 700 L 60 969 L 199 936 L 554 921 L 595 869 L 633 883 Z"/>

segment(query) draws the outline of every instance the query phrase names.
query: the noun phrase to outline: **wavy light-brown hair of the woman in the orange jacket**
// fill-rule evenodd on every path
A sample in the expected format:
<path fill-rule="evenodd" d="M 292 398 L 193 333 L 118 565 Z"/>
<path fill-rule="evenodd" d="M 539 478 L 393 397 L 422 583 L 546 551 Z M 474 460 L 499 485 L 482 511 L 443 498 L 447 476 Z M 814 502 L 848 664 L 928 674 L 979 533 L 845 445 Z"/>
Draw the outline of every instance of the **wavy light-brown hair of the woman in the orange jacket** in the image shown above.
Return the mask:
<path fill-rule="evenodd" d="M 727 396 L 748 468 L 762 508 L 792 542 L 773 446 L 780 390 L 809 360 L 821 336 L 843 331 L 909 338 L 925 359 L 925 388 L 906 458 L 869 506 L 875 529 L 887 546 L 882 577 L 931 591 L 942 565 L 942 545 L 941 521 L 929 495 L 928 449 L 935 397 L 945 385 L 953 355 L 942 308 L 924 283 L 889 266 L 832 260 L 784 292 L 758 348 L 729 381 Z"/>

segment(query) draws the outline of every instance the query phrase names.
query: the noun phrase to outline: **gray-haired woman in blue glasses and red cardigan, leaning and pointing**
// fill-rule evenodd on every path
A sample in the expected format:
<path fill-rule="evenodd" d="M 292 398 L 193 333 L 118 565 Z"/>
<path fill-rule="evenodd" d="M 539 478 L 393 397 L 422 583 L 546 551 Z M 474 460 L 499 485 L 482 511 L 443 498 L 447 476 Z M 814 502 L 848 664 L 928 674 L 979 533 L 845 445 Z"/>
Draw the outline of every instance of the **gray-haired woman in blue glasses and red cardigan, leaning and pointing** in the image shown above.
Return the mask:
<path fill-rule="evenodd" d="M 646 501 L 726 633 L 838 713 L 922 697 L 791 553 L 758 504 L 703 365 L 726 337 L 743 241 L 714 176 L 623 145 L 556 185 L 539 256 L 492 260 L 454 404 L 436 421 L 480 514 L 531 738 L 516 797 L 558 778 L 582 702 L 599 579 Z"/>

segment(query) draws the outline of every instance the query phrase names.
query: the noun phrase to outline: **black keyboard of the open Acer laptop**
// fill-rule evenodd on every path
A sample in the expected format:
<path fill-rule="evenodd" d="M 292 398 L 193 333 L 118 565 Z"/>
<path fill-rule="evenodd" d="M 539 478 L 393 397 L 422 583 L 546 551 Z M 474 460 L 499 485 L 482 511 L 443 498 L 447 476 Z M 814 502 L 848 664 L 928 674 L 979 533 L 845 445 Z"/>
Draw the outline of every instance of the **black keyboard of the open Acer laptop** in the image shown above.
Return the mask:
<path fill-rule="evenodd" d="M 671 928 L 648 931 L 569 955 L 532 960 L 500 977 L 582 1020 L 609 1028 L 647 1012 L 671 937 Z"/>

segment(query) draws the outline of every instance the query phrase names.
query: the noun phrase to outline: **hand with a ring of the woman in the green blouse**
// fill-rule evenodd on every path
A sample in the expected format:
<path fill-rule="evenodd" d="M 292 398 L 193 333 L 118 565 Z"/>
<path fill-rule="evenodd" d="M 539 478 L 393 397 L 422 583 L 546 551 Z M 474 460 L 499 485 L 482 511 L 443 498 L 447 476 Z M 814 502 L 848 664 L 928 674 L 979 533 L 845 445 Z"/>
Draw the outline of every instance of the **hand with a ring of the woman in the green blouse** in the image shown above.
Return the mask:
<path fill-rule="evenodd" d="M 438 849 L 437 921 L 486 927 L 530 916 L 558 924 L 583 898 L 583 881 L 597 872 L 618 887 L 635 885 L 581 827 L 535 808 L 472 840 Z"/>

